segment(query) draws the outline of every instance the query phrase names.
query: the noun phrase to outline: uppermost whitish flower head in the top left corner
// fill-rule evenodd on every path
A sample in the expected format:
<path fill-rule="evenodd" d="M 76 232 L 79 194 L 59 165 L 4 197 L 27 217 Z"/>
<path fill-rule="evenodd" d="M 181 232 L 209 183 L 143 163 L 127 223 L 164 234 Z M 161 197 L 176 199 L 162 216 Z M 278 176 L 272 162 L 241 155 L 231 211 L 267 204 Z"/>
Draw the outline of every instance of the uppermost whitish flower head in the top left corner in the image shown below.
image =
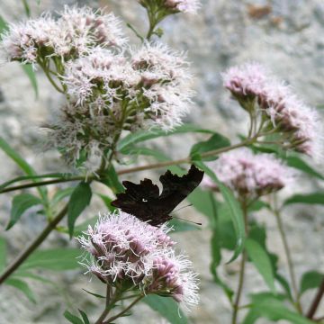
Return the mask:
<path fill-rule="evenodd" d="M 121 23 L 113 14 L 65 6 L 59 15 L 58 20 L 43 14 L 9 25 L 2 40 L 5 57 L 32 64 L 49 58 L 67 61 L 87 54 L 94 46 L 119 47 L 125 42 Z"/>

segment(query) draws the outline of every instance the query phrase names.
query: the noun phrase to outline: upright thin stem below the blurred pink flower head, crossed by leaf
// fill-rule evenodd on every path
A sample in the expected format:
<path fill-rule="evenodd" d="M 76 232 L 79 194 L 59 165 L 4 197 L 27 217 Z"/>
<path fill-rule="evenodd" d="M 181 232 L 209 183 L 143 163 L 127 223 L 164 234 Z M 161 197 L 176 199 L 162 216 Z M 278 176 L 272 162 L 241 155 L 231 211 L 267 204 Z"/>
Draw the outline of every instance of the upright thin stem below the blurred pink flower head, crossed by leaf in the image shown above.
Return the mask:
<path fill-rule="evenodd" d="M 246 201 L 246 199 L 242 200 L 241 206 L 242 206 L 242 210 L 243 210 L 245 231 L 246 231 L 246 236 L 247 236 L 248 227 L 247 227 L 247 201 Z M 235 298 L 235 302 L 233 304 L 233 314 L 232 314 L 232 320 L 231 320 L 232 324 L 237 324 L 237 322 L 238 322 L 238 311 L 240 309 L 239 302 L 240 302 L 240 298 L 241 298 L 243 286 L 244 286 L 246 264 L 247 264 L 247 251 L 244 250 L 242 253 L 242 258 L 241 258 L 241 262 L 240 262 L 240 266 L 239 266 L 238 293 Z"/>

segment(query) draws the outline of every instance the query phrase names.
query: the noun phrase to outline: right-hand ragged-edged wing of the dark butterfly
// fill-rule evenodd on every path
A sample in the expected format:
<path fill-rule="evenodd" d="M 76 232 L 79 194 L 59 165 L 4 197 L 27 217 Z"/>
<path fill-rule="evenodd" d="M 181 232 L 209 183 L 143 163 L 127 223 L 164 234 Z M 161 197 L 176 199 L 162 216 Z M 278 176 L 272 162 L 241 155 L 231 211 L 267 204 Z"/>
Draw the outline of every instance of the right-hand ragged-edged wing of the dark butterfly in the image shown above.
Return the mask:
<path fill-rule="evenodd" d="M 173 175 L 170 171 L 161 175 L 159 179 L 163 184 L 163 190 L 158 204 L 165 206 L 163 212 L 169 214 L 173 211 L 202 182 L 202 177 L 203 172 L 193 165 L 183 176 Z"/>

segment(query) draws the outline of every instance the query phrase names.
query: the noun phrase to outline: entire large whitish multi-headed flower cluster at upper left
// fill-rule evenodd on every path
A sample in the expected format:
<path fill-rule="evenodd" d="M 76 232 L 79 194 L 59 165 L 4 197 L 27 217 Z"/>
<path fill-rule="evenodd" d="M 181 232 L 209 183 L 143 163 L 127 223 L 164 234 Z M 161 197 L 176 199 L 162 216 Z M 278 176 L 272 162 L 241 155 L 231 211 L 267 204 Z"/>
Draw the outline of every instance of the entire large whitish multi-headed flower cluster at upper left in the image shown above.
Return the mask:
<path fill-rule="evenodd" d="M 172 130 L 191 106 L 183 53 L 161 43 L 131 49 L 112 14 L 68 8 L 55 20 L 12 24 L 1 43 L 9 60 L 38 64 L 67 103 L 48 123 L 47 147 L 70 166 L 95 172 L 123 130 Z"/>

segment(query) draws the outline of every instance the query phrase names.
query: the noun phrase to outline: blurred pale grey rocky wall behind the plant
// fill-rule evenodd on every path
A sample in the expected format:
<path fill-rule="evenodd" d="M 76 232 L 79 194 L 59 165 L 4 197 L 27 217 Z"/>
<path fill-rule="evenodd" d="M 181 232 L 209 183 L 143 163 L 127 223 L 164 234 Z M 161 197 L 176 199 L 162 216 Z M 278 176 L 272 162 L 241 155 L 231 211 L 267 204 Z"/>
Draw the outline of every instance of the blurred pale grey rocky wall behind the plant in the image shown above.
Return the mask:
<path fill-rule="evenodd" d="M 45 10 L 59 11 L 64 4 L 89 4 L 93 7 L 106 6 L 121 16 L 124 22 L 130 22 L 139 31 L 146 31 L 146 17 L 136 0 L 29 0 L 31 15 L 36 17 Z M 1 0 L 0 14 L 7 22 L 25 19 L 23 1 Z M 238 133 L 247 130 L 247 115 L 238 108 L 238 104 L 229 99 L 229 94 L 221 85 L 220 72 L 227 67 L 251 60 L 266 65 L 274 73 L 293 85 L 297 94 L 306 103 L 318 106 L 324 103 L 324 2 L 323 0 L 202 0 L 202 9 L 197 15 L 177 14 L 169 17 L 161 26 L 163 40 L 171 47 L 187 51 L 195 74 L 196 107 L 187 117 L 205 128 L 218 130 L 236 139 Z M 139 41 L 124 23 L 125 32 L 133 44 Z M 61 102 L 59 95 L 49 85 L 48 80 L 39 71 L 39 98 L 35 99 L 31 83 L 18 64 L 10 63 L 0 66 L 0 135 L 16 148 L 39 173 L 61 172 L 67 170 L 56 152 L 43 152 L 39 125 L 45 122 L 49 112 L 55 110 Z M 185 157 L 189 143 L 196 136 L 179 136 L 166 138 L 156 143 L 160 148 L 167 148 L 172 157 Z M 0 178 L 4 182 L 20 171 L 0 151 Z M 143 161 L 139 160 L 139 163 Z M 311 162 L 310 162 L 311 163 Z M 323 166 L 320 166 L 323 169 Z M 157 170 L 136 175 L 152 176 L 164 172 Z M 135 175 L 132 175 L 135 176 Z M 284 194 L 315 191 L 320 184 L 301 181 L 300 187 L 286 190 Z M 54 190 L 54 189 L 53 189 Z M 35 212 L 23 216 L 10 232 L 4 232 L 8 220 L 13 194 L 0 196 L 0 231 L 9 242 L 9 255 L 16 255 L 37 233 L 43 229 L 45 220 Z M 103 208 L 99 202 L 94 203 L 93 215 L 97 208 Z M 200 273 L 202 302 L 188 316 L 197 324 L 227 324 L 230 319 L 230 306 L 220 288 L 212 282 L 209 273 L 210 237 L 207 220 L 197 215 L 192 207 L 186 208 L 185 217 L 191 214 L 193 220 L 202 220 L 206 225 L 202 230 L 175 234 L 178 247 L 190 255 L 193 266 Z M 179 212 L 181 216 L 181 212 Z M 266 223 L 270 230 L 267 238 L 269 249 L 281 258 L 281 273 L 287 275 L 287 265 L 283 247 L 278 237 L 273 216 L 261 211 L 257 219 Z M 308 269 L 323 270 L 324 255 L 324 215 L 318 208 L 299 207 L 289 209 L 284 215 L 284 226 L 289 233 L 293 259 L 297 275 Z M 67 236 L 51 234 L 42 247 L 76 245 L 67 241 Z M 229 256 L 224 257 L 225 260 Z M 236 287 L 238 262 L 221 267 L 221 275 Z M 92 292 L 103 293 L 102 284 L 96 280 L 89 282 L 89 277 L 78 272 L 66 274 L 43 273 L 58 284 L 59 289 L 32 282 L 38 303 L 29 302 L 21 293 L 11 287 L 0 290 L 0 323 L 66 323 L 63 312 L 68 308 L 85 310 L 92 320 L 103 309 L 100 300 L 88 295 L 82 288 Z M 246 289 L 250 293 L 265 288 L 263 280 L 252 266 L 247 267 Z M 314 292 L 306 293 L 302 299 L 305 308 Z M 244 301 L 243 301 L 244 302 Z M 245 301 L 247 302 L 247 301 Z M 324 309 L 322 308 L 322 312 Z M 134 309 L 134 317 L 121 320 L 121 323 L 162 323 L 156 313 L 146 305 Z M 258 323 L 268 323 L 260 320 Z M 284 321 L 282 322 L 284 323 Z"/>

